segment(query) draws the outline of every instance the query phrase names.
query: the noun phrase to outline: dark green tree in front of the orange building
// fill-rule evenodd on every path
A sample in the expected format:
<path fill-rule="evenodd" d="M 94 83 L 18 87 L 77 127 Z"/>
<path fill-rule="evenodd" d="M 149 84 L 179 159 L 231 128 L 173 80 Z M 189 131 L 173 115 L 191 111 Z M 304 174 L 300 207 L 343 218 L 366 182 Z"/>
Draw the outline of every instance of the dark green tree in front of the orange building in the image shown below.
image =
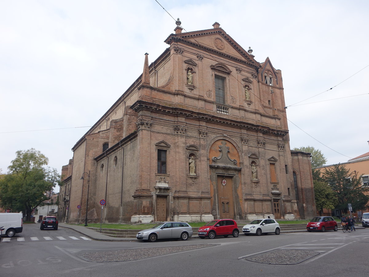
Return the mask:
<path fill-rule="evenodd" d="M 369 187 L 362 186 L 362 176 L 358 176 L 358 172 L 349 172 L 344 165 L 335 164 L 324 170 L 322 178 L 337 194 L 338 205 L 336 208 L 343 213 L 347 213 L 348 203 L 351 203 L 353 211 L 367 208 L 369 195 L 366 195 L 365 192 L 369 191 Z"/>

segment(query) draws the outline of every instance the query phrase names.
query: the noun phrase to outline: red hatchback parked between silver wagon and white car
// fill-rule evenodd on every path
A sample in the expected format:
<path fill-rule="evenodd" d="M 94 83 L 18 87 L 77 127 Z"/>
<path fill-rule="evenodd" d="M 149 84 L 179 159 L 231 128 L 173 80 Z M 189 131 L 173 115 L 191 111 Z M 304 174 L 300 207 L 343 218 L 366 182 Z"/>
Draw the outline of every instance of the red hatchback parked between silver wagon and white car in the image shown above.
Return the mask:
<path fill-rule="evenodd" d="M 237 223 L 233 219 L 215 219 L 200 227 L 197 235 L 201 239 L 204 237 L 214 239 L 216 236 L 228 237 L 229 235 L 238 237 L 239 230 Z"/>

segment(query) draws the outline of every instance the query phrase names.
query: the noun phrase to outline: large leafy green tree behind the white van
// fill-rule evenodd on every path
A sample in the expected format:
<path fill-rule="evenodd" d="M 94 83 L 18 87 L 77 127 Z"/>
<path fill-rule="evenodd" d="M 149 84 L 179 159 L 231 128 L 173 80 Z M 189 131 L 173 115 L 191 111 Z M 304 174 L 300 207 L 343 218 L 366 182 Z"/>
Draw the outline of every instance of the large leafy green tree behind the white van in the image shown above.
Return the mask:
<path fill-rule="evenodd" d="M 23 211 L 29 221 L 32 209 L 49 199 L 46 192 L 60 182 L 60 175 L 55 168 L 46 167 L 48 158 L 34 148 L 15 154 L 8 174 L 0 179 L 0 205 L 12 211 Z"/>

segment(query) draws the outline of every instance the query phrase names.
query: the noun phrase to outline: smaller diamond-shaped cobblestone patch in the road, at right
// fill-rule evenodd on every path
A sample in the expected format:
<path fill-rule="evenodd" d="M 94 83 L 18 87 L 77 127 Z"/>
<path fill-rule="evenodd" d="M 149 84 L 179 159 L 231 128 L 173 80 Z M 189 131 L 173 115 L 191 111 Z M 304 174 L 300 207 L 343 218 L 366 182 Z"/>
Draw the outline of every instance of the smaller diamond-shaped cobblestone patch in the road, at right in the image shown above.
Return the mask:
<path fill-rule="evenodd" d="M 264 264 L 298 264 L 320 254 L 316 251 L 299 249 L 276 249 L 266 253 L 247 257 L 245 260 Z"/>

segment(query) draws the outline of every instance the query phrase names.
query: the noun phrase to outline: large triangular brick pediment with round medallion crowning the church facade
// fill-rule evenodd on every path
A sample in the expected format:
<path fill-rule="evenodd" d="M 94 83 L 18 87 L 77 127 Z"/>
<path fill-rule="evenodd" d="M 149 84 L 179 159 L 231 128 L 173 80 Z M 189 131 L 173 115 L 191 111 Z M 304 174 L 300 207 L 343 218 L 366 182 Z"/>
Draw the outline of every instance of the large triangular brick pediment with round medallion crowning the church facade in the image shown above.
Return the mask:
<path fill-rule="evenodd" d="M 254 57 L 225 33 L 222 28 L 171 34 L 165 42 L 168 44 L 184 43 L 192 45 L 194 48 L 202 48 L 209 53 L 213 52 L 232 59 L 236 58 L 255 68 L 260 68 L 259 62 L 255 61 Z"/>

